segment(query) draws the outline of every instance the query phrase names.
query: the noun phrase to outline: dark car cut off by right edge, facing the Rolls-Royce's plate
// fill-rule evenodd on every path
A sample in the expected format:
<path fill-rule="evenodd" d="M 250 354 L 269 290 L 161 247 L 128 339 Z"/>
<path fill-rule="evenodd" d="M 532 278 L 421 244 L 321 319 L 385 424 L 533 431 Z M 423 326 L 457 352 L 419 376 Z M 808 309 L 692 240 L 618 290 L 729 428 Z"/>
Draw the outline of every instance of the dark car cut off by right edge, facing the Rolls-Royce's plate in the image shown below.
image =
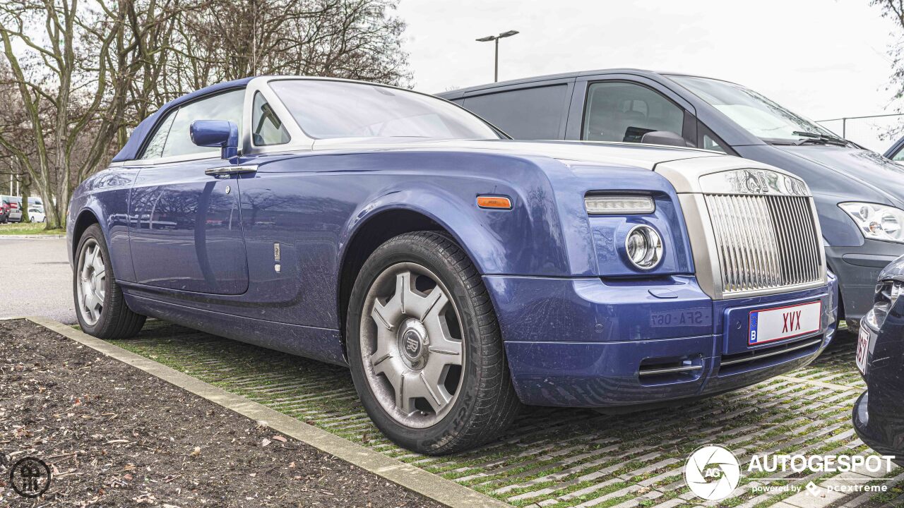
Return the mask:
<path fill-rule="evenodd" d="M 904 466 L 904 258 L 882 270 L 875 302 L 863 317 L 857 368 L 867 390 L 853 408 L 862 441 Z"/>

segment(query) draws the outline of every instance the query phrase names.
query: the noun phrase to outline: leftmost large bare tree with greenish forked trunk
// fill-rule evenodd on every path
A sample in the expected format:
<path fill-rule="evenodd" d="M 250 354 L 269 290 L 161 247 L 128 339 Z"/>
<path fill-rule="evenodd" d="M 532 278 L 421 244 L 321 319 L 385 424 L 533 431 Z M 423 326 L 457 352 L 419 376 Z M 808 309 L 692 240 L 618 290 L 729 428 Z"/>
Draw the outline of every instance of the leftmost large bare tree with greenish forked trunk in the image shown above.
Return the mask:
<path fill-rule="evenodd" d="M 145 63 L 140 42 L 156 12 L 151 0 L 151 23 L 138 22 L 136 5 L 0 4 L 8 82 L 24 110 L 18 125 L 0 129 L 0 146 L 41 195 L 48 227 L 63 225 L 75 186 L 105 162 L 129 123 L 129 86 Z"/>

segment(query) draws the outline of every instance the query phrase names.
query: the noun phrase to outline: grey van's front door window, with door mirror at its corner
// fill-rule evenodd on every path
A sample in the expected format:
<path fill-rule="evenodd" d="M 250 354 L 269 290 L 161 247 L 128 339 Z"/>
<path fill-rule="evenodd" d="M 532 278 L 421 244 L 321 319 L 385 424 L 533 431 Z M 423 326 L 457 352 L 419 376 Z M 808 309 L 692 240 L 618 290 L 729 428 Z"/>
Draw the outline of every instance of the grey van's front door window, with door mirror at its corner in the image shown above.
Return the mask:
<path fill-rule="evenodd" d="M 658 92 L 635 83 L 591 83 L 581 139 L 640 143 L 648 132 L 682 134 L 684 111 Z"/>

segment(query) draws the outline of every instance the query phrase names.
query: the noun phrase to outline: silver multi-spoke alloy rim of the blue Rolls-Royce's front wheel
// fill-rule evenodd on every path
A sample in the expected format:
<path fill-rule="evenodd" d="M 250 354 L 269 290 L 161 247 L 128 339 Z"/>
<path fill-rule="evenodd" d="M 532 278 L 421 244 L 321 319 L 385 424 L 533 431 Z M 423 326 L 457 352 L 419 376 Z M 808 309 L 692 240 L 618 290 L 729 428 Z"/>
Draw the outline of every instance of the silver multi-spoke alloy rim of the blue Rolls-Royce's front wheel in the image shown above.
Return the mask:
<path fill-rule="evenodd" d="M 410 428 L 428 428 L 457 400 L 465 364 L 455 303 L 416 263 L 386 268 L 364 297 L 361 355 L 380 405 Z"/>

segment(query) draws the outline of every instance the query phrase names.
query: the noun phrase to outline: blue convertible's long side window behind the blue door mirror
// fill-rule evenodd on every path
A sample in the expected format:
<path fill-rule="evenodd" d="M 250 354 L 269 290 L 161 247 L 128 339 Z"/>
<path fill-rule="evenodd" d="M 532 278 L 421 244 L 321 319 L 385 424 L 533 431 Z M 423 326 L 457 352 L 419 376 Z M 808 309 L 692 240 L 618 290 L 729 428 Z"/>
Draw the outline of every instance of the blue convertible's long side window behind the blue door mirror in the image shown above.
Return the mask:
<path fill-rule="evenodd" d="M 244 98 L 245 90 L 237 89 L 196 100 L 171 111 L 157 127 L 154 136 L 151 136 L 141 158 L 220 153 L 219 148 L 192 143 L 189 127 L 194 120 L 229 120 L 241 132 L 241 105 Z"/>

